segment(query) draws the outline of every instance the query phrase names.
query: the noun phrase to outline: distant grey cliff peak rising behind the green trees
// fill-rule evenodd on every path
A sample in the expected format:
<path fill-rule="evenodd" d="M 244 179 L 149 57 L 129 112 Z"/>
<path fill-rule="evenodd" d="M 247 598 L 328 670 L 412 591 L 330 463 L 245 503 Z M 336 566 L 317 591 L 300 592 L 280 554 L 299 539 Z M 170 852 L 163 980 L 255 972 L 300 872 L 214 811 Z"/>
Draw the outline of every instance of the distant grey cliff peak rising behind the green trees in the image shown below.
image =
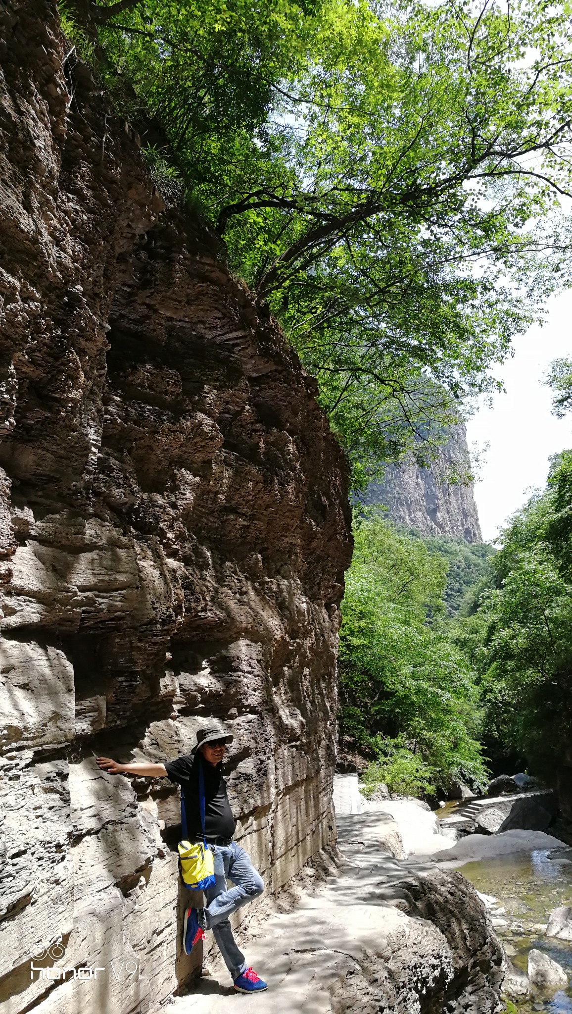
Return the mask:
<path fill-rule="evenodd" d="M 396 524 L 417 528 L 422 535 L 456 535 L 482 542 L 473 483 L 457 485 L 446 479 L 468 460 L 467 433 L 459 425 L 430 468 L 388 465 L 381 482 L 370 483 L 365 502 L 384 504 Z"/>

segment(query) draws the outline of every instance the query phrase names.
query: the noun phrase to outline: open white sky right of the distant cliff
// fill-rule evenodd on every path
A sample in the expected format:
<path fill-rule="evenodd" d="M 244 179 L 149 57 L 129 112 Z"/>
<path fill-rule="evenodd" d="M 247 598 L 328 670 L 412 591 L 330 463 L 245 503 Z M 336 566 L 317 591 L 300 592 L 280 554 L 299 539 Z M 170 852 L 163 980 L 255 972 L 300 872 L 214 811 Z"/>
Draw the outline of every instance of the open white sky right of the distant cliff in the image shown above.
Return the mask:
<path fill-rule="evenodd" d="M 480 482 L 475 484 L 483 538 L 491 541 L 499 526 L 544 488 L 551 454 L 572 447 L 572 414 L 551 415 L 550 388 L 542 383 L 553 359 L 572 355 L 572 291 L 553 297 L 542 328 L 513 341 L 514 357 L 496 371 L 505 393 L 493 407 L 480 408 L 467 424 L 469 447 L 483 450 Z"/>

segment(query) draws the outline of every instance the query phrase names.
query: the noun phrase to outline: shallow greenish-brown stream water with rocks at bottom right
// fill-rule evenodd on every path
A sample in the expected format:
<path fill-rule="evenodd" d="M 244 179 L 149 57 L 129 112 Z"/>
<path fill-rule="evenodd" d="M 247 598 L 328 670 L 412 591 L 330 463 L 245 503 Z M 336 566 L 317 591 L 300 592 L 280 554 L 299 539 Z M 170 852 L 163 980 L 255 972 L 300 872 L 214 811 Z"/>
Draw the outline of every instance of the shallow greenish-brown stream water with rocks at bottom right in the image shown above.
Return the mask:
<path fill-rule="evenodd" d="M 570 976 L 567 990 L 538 993 L 519 1001 L 515 1004 L 518 1014 L 572 1014 L 572 943 L 544 935 L 552 910 L 572 906 L 572 849 L 513 853 L 466 863 L 458 872 L 482 894 L 496 898 L 493 925 L 514 965 L 526 971 L 528 951 L 535 947 L 550 954 Z"/>

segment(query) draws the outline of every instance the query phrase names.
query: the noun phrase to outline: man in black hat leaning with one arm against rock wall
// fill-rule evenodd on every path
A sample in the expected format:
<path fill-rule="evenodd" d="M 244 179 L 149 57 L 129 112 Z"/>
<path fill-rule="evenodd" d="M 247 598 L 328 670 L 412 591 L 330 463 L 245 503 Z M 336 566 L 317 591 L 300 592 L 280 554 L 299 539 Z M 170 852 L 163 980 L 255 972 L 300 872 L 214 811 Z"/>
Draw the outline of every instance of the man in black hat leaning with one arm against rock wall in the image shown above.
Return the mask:
<path fill-rule="evenodd" d="M 233 736 L 218 725 L 197 732 L 197 743 L 191 753 L 163 764 L 118 764 L 110 757 L 97 757 L 99 768 L 110 775 L 138 775 L 144 778 L 168 777 L 181 784 L 185 793 L 188 835 L 190 842 L 203 841 L 199 803 L 199 766 L 203 767 L 205 783 L 205 839 L 214 853 L 215 883 L 205 891 L 206 907 L 190 908 L 185 913 L 183 946 L 190 954 L 205 932 L 212 930 L 218 948 L 228 968 L 234 989 L 239 993 L 259 993 L 268 986 L 254 968 L 247 968 L 244 955 L 238 950 L 229 916 L 241 906 L 262 894 L 264 882 L 255 870 L 251 857 L 233 842 L 236 821 L 232 816 L 226 785 L 222 777 L 222 759 Z M 228 887 L 226 880 L 234 886 Z"/>

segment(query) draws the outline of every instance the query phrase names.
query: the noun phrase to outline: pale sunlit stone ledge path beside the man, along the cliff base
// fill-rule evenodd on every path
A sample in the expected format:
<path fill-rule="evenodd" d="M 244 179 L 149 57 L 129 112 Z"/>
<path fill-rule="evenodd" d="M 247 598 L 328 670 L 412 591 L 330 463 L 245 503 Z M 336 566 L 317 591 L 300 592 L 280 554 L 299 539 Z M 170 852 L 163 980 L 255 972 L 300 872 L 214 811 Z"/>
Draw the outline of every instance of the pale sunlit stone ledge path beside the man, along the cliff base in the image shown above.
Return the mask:
<path fill-rule="evenodd" d="M 271 916 L 254 932 L 256 920 L 251 922 L 248 940 L 240 946 L 268 982 L 268 992 L 236 993 L 220 964 L 189 994 L 151 1014 L 363 1014 L 379 1009 L 419 1014 L 419 994 L 440 990 L 453 974 L 442 933 L 403 911 L 409 909 L 407 898 L 412 900 L 407 889 L 412 874 L 434 873 L 435 867 L 429 861 L 407 867 L 398 861 L 387 846 L 399 839 L 396 821 L 384 812 L 356 812 L 361 804 L 356 794 L 357 778 L 336 780 L 341 866 L 313 893 L 304 894 L 295 911 Z"/>

